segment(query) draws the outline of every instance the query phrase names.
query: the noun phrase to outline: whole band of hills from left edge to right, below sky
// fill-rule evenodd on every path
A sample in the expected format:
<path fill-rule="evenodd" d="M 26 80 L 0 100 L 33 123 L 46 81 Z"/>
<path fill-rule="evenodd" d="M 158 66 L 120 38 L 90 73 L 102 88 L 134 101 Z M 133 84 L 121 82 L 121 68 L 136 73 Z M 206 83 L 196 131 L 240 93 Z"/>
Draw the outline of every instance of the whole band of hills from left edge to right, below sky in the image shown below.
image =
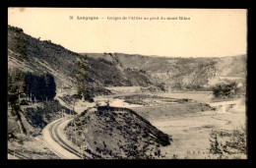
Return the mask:
<path fill-rule="evenodd" d="M 178 58 L 122 53 L 72 52 L 50 40 L 40 40 L 8 28 L 8 67 L 35 74 L 49 73 L 57 89 L 73 87 L 84 97 L 102 86 L 155 85 L 166 90 L 209 89 L 225 81 L 245 84 L 246 55 L 223 58 Z M 160 90 L 160 89 L 157 89 Z"/>

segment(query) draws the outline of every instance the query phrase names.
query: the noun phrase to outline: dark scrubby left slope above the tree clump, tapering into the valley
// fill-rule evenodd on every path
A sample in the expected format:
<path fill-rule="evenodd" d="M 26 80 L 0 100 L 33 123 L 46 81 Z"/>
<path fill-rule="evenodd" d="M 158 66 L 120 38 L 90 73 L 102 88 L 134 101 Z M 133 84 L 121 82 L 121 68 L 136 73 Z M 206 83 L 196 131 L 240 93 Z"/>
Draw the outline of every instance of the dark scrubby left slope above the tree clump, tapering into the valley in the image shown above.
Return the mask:
<path fill-rule="evenodd" d="M 152 85 L 145 73 L 125 69 L 115 60 L 83 56 L 8 26 L 8 68 L 14 67 L 37 75 L 48 73 L 54 77 L 57 91 L 72 87 L 89 99 L 109 94 L 103 86 Z"/>

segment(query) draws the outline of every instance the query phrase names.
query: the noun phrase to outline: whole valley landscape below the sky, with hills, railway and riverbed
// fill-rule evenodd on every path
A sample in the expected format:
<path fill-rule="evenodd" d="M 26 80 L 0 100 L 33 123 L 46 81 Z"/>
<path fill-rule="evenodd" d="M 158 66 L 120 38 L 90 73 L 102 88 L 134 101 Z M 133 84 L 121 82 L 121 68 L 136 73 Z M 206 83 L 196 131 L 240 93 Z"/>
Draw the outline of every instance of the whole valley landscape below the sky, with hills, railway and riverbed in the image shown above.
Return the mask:
<path fill-rule="evenodd" d="M 75 53 L 8 26 L 7 156 L 246 158 L 246 57 Z"/>

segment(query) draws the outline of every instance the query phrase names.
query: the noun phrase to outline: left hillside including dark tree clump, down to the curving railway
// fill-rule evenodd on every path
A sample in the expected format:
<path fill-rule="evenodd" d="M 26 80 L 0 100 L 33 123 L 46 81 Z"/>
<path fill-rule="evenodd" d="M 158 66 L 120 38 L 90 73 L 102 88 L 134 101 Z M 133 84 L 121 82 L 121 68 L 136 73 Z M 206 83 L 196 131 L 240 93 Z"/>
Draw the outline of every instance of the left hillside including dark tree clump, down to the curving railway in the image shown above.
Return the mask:
<path fill-rule="evenodd" d="M 111 91 L 104 86 L 147 86 L 141 72 L 115 62 L 89 58 L 50 40 L 40 40 L 22 28 L 8 26 L 8 136 L 38 136 L 49 122 L 70 110 L 59 100 L 74 103 L 74 96 L 94 101 Z M 12 144 L 11 144 L 12 145 Z"/>

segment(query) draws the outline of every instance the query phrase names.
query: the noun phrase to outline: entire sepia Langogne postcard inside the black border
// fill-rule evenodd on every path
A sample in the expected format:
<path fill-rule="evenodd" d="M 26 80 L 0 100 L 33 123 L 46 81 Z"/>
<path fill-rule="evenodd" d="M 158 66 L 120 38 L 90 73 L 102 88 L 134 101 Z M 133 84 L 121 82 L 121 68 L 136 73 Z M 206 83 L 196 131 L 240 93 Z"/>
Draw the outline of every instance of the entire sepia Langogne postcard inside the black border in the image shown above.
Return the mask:
<path fill-rule="evenodd" d="M 8 160 L 247 159 L 247 10 L 8 8 Z"/>

